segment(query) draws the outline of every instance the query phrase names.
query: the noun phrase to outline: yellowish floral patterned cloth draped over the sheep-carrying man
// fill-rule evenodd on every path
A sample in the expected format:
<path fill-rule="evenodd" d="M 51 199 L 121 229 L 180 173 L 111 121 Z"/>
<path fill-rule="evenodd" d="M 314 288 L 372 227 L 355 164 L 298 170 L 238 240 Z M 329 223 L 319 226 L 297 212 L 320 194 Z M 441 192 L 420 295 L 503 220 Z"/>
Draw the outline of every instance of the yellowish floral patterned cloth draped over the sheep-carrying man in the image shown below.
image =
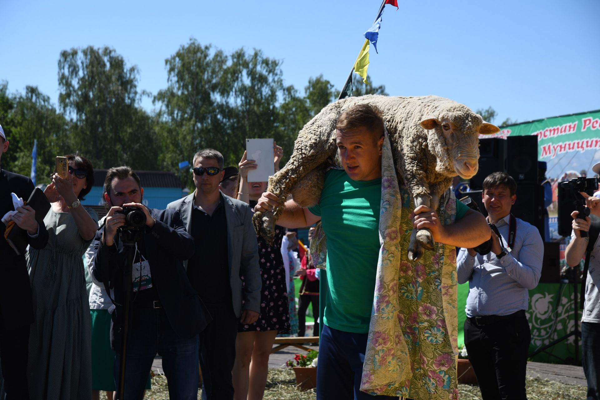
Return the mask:
<path fill-rule="evenodd" d="M 455 248 L 436 243 L 418 263 L 410 261 L 407 248 L 413 209 L 408 191 L 398 187 L 386 133 L 379 220 L 382 246 L 361 390 L 415 400 L 458 400 Z M 444 224 L 451 224 L 455 212 L 456 199 L 448 190 L 437 213 Z M 313 242 L 313 259 L 317 267 L 323 267 L 326 238 L 322 228 L 317 228 Z"/>

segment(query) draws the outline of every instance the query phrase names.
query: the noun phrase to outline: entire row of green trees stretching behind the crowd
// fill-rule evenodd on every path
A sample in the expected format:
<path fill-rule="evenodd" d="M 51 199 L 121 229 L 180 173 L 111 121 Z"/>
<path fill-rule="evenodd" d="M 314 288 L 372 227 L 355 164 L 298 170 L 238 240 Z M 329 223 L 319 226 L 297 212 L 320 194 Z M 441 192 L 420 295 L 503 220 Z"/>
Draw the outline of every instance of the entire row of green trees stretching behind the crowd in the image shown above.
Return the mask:
<path fill-rule="evenodd" d="M 285 163 L 298 132 L 338 94 L 322 75 L 308 80 L 304 94 L 284 85 L 281 61 L 257 49 L 225 53 L 191 39 L 165 66 L 166 87 L 153 97 L 152 114 L 140 107 L 148 94 L 137 88 L 139 70 L 109 47 L 61 52 L 58 111 L 36 87 L 10 94 L 0 82 L 0 123 L 11 142 L 2 167 L 29 175 L 37 139 L 38 182 L 49 182 L 56 155 L 78 151 L 96 169 L 170 170 L 189 186 L 191 174 L 178 163 L 202 148 L 236 165 L 245 139 L 272 137 Z M 371 93 L 386 94 L 385 86 L 355 77 L 354 94 Z"/>

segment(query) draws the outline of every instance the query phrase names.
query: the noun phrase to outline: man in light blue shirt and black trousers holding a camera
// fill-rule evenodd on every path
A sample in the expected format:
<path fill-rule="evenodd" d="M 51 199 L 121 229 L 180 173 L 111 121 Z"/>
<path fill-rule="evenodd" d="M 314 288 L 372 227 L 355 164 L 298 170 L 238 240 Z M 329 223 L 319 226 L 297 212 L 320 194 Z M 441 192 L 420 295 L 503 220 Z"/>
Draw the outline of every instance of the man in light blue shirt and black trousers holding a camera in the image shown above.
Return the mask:
<path fill-rule="evenodd" d="M 461 249 L 458 283 L 469 282 L 464 342 L 484 400 L 526 400 L 525 372 L 531 333 L 525 310 L 538 285 L 544 242 L 533 225 L 511 214 L 517 184 L 506 173 L 484 179 L 482 201 L 496 225 L 491 252 Z"/>

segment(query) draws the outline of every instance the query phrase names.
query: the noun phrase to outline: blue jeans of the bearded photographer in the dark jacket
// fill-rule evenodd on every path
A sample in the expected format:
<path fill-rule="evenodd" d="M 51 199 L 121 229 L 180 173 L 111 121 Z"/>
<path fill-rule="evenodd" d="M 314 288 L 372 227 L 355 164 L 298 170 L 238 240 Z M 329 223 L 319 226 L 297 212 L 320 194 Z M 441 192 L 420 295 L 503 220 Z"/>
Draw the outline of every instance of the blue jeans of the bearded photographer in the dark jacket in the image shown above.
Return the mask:
<path fill-rule="evenodd" d="M 127 400 L 142 400 L 148 372 L 156 354 L 163 357 L 163 370 L 169 384 L 169 398 L 198 398 L 198 335 L 182 340 L 173 331 L 163 308 L 132 308 L 127 359 L 125 360 L 125 390 Z M 119 390 L 121 348 L 115 343 L 115 384 Z"/>

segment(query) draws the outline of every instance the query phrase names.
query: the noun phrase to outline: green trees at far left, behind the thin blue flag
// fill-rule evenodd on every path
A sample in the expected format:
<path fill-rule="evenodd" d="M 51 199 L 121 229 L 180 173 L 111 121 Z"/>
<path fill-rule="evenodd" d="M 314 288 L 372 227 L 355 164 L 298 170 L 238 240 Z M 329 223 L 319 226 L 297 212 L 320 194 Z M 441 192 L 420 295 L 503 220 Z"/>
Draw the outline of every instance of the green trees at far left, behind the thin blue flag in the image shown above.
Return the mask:
<path fill-rule="evenodd" d="M 8 93 L 8 84 L 0 84 L 0 121 L 10 142 L 2 155 L 2 168 L 29 176 L 31 152 L 37 140 L 37 184 L 49 183 L 55 157 L 72 151 L 67 120 L 56 112 L 47 95 L 37 86 L 26 86 L 25 94 Z"/>

